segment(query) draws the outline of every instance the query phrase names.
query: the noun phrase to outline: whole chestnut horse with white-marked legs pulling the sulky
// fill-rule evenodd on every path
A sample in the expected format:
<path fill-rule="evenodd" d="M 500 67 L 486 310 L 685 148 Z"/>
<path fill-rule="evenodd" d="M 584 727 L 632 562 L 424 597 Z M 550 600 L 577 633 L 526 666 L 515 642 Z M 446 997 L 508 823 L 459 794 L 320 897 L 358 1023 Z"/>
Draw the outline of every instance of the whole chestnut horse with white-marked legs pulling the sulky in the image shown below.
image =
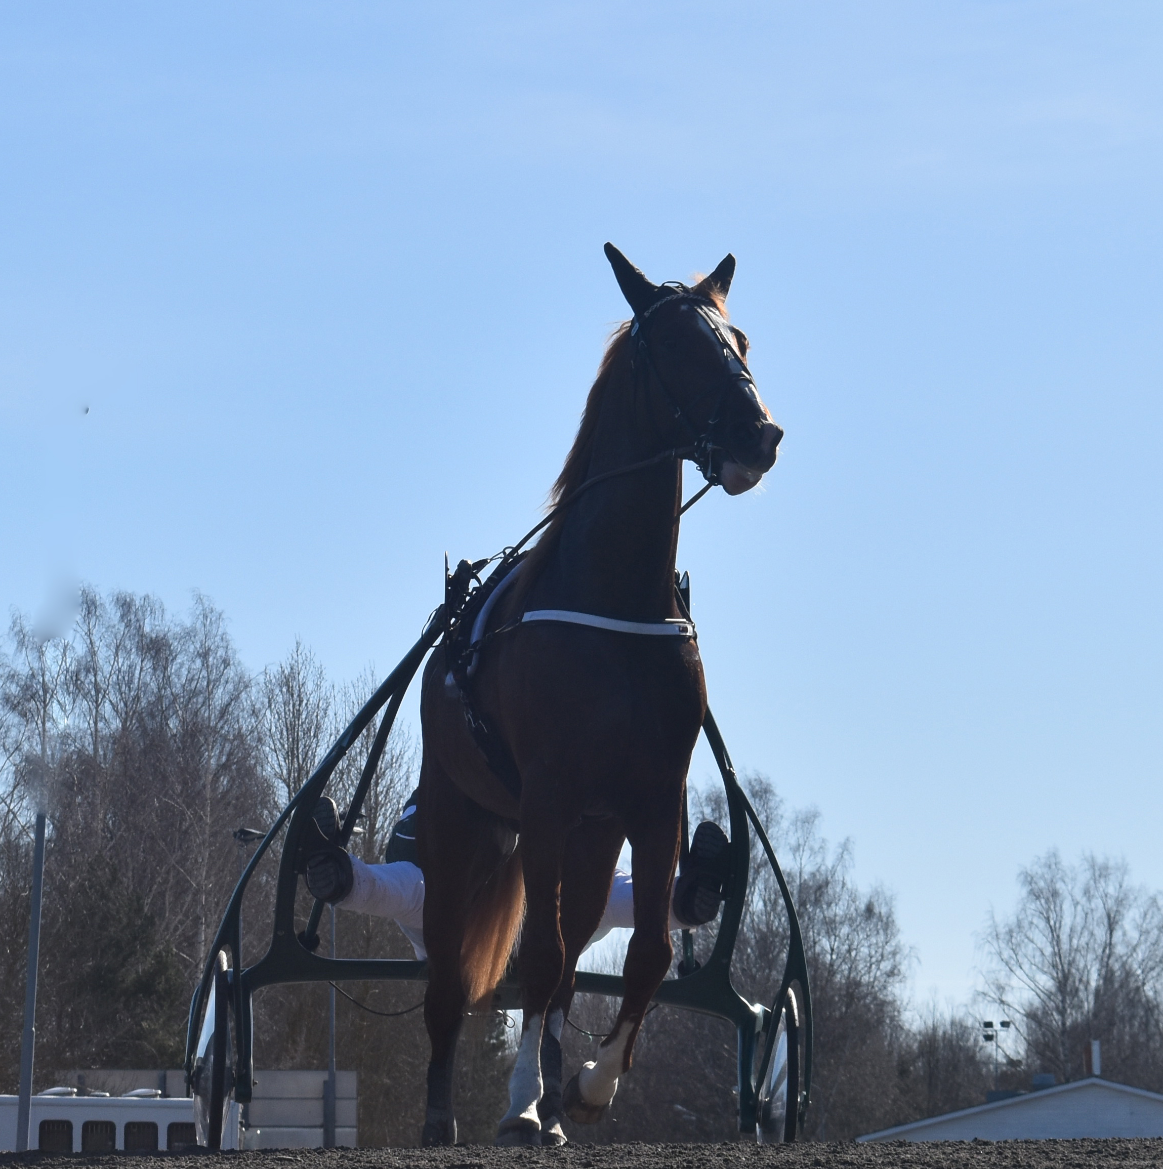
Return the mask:
<path fill-rule="evenodd" d="M 438 650 L 423 675 L 424 1144 L 456 1141 L 461 1023 L 491 995 L 518 935 L 521 1039 L 497 1143 L 565 1143 L 562 1115 L 597 1121 L 630 1068 L 671 964 L 686 773 L 706 711 L 674 593 L 681 462 L 739 494 L 783 437 L 748 371 L 747 338 L 727 320 L 734 257 L 687 286 L 651 283 L 612 244 L 605 254 L 634 318 L 607 346 L 552 519 L 497 597 L 468 690 Z M 574 971 L 627 841 L 635 925 L 623 1001 L 596 1060 L 562 1088 Z"/>

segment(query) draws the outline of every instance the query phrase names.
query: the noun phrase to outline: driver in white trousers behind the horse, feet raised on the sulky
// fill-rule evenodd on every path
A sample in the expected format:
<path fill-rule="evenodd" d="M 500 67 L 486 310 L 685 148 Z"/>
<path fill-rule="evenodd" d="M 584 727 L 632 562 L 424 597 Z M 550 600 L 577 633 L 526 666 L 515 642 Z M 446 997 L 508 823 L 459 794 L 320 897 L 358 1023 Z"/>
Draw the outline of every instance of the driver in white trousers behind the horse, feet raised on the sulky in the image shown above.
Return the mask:
<path fill-rule="evenodd" d="M 314 810 L 319 837 L 306 856 L 307 891 L 312 897 L 376 918 L 390 918 L 411 942 L 416 957 L 424 949 L 424 874 L 416 864 L 416 796 L 407 800 L 403 815 L 392 829 L 382 865 L 369 865 L 339 845 L 339 810 L 324 796 Z M 683 874 L 674 881 L 671 898 L 671 929 L 704 926 L 719 913 L 724 899 L 731 842 L 713 821 L 704 821 L 691 838 Z M 634 928 L 634 877 L 615 869 L 610 897 L 589 946 L 611 929 Z"/>

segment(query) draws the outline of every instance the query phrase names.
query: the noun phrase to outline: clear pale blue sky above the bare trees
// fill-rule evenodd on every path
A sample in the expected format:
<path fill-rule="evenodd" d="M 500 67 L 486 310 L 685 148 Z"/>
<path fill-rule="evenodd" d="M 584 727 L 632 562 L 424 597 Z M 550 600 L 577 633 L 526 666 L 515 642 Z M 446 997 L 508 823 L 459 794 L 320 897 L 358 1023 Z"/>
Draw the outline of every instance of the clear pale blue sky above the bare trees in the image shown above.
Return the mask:
<path fill-rule="evenodd" d="M 386 670 L 444 551 L 536 519 L 625 316 L 602 243 L 731 250 L 787 438 L 680 561 L 739 766 L 895 891 L 920 999 L 1051 845 L 1163 887 L 1158 5 L 0 29 L 6 608 L 201 589 L 255 669 Z"/>

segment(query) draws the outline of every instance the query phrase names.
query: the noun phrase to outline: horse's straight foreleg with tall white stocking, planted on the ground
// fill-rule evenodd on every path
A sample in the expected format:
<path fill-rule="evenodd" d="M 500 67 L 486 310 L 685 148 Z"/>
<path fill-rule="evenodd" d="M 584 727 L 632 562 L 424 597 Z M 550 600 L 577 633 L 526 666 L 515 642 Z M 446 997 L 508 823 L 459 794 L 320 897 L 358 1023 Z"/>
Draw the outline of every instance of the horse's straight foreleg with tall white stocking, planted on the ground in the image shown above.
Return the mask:
<path fill-rule="evenodd" d="M 525 809 L 522 808 L 522 821 Z M 549 817 L 536 817 L 540 823 Z M 497 1128 L 497 1144 L 540 1144 L 541 1036 L 546 1009 L 561 983 L 565 950 L 559 927 L 559 894 L 565 833 L 542 828 L 521 835 L 525 872 L 525 926 L 518 966 L 521 974 L 521 1045 L 508 1078 L 508 1112 Z M 559 1030 L 560 1033 L 560 1030 Z"/>

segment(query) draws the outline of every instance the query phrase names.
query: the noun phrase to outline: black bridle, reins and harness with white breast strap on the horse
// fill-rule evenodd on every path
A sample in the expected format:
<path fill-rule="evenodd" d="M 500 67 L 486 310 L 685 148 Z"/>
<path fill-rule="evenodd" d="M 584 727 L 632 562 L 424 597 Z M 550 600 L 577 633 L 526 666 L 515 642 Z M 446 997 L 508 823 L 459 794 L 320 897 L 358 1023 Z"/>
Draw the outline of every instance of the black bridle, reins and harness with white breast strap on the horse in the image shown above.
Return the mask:
<path fill-rule="evenodd" d="M 694 622 L 690 620 L 686 606 L 681 603 L 679 594 L 680 610 L 686 614 L 683 618 L 667 618 L 665 621 L 621 621 L 615 617 L 603 617 L 593 613 L 576 613 L 569 609 L 534 609 L 526 611 L 512 621 L 496 629 L 489 628 L 489 621 L 496 610 L 497 603 L 506 588 L 512 584 L 520 572 L 521 565 L 527 553 L 525 545 L 546 527 L 551 520 L 565 507 L 569 506 L 584 491 L 611 479 L 616 476 L 629 475 L 634 471 L 656 466 L 663 462 L 672 459 L 691 458 L 698 466 L 706 485 L 697 491 L 678 511 L 674 523 L 681 518 L 687 509 L 699 502 L 713 486 L 719 483 L 719 468 L 722 459 L 715 465 L 715 452 L 721 451 L 724 456 L 731 454 L 729 448 L 718 438 L 717 427 L 722 408 L 724 399 L 733 382 L 743 382 L 745 389 L 759 401 L 759 393 L 752 379 L 747 364 L 740 358 L 735 347 L 728 341 L 724 332 L 726 325 L 719 314 L 717 306 L 706 298 L 688 289 L 685 284 L 662 285 L 669 292 L 659 297 L 643 312 L 636 313 L 630 326 L 630 336 L 636 338 L 636 346 L 631 358 L 631 367 L 636 376 L 641 374 L 644 380 L 653 374 L 663 392 L 663 396 L 673 410 L 673 416 L 691 434 L 693 442 L 688 447 L 674 447 L 670 450 L 659 451 L 650 458 L 628 466 L 615 468 L 611 471 L 603 471 L 582 483 L 575 491 L 552 509 L 540 524 L 531 528 L 515 545 L 504 549 L 496 556 L 485 560 L 469 561 L 462 560 L 456 570 L 449 573 L 445 558 L 445 587 L 444 587 L 444 614 L 445 630 L 443 637 L 445 677 L 445 692 L 456 694 L 461 699 L 464 711 L 465 726 L 472 735 L 477 749 L 484 758 L 489 769 L 500 780 L 505 790 L 514 800 L 521 796 L 521 777 L 517 763 L 504 739 L 489 725 L 472 701 L 471 682 L 480 662 L 480 652 L 492 638 L 501 634 L 510 632 L 521 625 L 552 622 L 558 624 L 586 625 L 591 629 L 603 629 L 617 634 L 646 637 L 679 637 L 687 641 L 697 641 Z M 676 399 L 665 379 L 659 374 L 650 357 L 650 345 L 648 340 L 646 324 L 656 309 L 672 300 L 688 300 L 693 303 L 700 319 L 712 330 L 722 346 L 724 364 L 727 378 L 718 386 L 700 394 L 694 402 L 685 409 Z M 692 420 L 690 410 L 701 402 L 707 394 L 718 388 L 718 397 L 714 409 L 705 427 L 699 427 Z M 493 561 L 498 561 L 497 567 L 484 580 L 480 573 Z"/>

